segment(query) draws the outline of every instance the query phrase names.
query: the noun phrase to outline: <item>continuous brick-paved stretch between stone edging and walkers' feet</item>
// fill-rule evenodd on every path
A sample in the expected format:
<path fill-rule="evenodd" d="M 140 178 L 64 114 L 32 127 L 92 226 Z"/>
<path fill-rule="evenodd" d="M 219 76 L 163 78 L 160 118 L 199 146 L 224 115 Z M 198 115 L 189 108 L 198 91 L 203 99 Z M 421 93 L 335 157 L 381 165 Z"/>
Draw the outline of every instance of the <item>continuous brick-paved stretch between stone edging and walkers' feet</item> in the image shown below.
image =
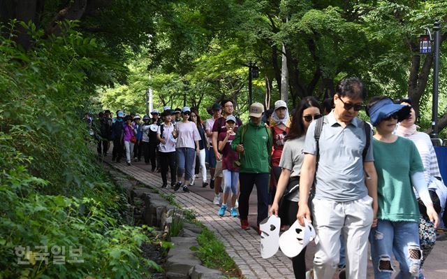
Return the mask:
<path fill-rule="evenodd" d="M 254 229 L 242 230 L 239 218 L 230 217 L 228 213 L 224 217 L 219 217 L 218 208 L 211 201 L 193 192 L 183 193 L 182 189 L 174 192 L 170 189 L 169 183 L 167 189 L 161 189 L 160 173 L 142 171 L 140 167 L 127 166 L 125 162 L 112 163 L 110 157 L 106 157 L 105 162 L 132 176 L 140 183 L 159 189 L 160 192 L 175 193 L 177 203 L 184 208 L 194 210 L 197 213 L 197 219 L 221 239 L 226 252 L 234 259 L 245 278 L 295 278 L 291 260 L 280 250 L 270 259 L 261 257 L 261 241 L 258 234 Z"/>

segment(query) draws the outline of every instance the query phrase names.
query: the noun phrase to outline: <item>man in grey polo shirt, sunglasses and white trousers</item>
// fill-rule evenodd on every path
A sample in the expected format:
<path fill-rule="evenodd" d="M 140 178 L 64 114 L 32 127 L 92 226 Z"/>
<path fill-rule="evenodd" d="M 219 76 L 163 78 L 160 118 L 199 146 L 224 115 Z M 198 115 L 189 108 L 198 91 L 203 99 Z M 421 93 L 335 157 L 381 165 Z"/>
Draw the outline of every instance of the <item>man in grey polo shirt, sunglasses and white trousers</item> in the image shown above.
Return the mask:
<path fill-rule="evenodd" d="M 346 278 L 366 278 L 369 229 L 376 225 L 377 176 L 372 144 L 365 161 L 366 145 L 358 110 L 366 98 L 365 85 L 358 78 L 342 80 L 334 96 L 335 108 L 325 116 L 318 141 L 319 159 L 316 168 L 316 121 L 307 130 L 305 159 L 300 177 L 298 220 L 311 220 L 309 190 L 315 178 L 312 200 L 313 224 L 319 241 L 314 256 L 314 278 L 330 279 L 337 269 L 340 234 L 346 245 Z M 314 176 L 316 171 L 316 176 Z"/>

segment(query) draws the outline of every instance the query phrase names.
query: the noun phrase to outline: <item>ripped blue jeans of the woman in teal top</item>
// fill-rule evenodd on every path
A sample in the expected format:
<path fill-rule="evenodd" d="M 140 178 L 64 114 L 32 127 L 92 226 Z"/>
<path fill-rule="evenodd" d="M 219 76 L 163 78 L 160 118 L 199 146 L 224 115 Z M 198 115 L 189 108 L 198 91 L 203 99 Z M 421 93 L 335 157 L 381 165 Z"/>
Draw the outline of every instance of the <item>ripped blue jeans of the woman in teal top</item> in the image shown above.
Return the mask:
<path fill-rule="evenodd" d="M 422 251 L 419 245 L 417 222 L 379 220 L 369 233 L 374 278 L 391 278 L 394 272 L 393 255 L 400 271 L 395 278 L 414 278 L 419 274 Z"/>

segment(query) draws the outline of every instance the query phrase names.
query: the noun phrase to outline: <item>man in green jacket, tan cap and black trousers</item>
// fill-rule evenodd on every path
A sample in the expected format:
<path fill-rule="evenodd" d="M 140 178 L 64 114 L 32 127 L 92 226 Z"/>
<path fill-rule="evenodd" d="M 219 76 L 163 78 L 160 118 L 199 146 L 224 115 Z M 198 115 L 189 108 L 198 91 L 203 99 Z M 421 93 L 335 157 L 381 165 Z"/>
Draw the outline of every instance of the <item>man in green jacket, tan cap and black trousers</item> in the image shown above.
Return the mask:
<path fill-rule="evenodd" d="M 249 229 L 249 198 L 256 184 L 258 194 L 259 224 L 268 216 L 268 177 L 272 155 L 272 131 L 262 122 L 262 103 L 252 103 L 249 110 L 250 122 L 237 129 L 231 148 L 240 157 L 239 215 L 242 229 Z"/>

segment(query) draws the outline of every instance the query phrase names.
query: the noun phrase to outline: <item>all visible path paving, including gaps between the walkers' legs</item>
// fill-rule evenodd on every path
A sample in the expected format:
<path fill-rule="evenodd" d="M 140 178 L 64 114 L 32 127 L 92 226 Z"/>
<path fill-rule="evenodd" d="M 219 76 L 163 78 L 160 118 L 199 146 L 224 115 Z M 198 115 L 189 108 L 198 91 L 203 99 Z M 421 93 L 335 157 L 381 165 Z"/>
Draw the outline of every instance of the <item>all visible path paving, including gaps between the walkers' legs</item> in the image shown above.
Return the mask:
<path fill-rule="evenodd" d="M 110 148 L 110 151 L 112 148 Z M 105 157 L 105 162 L 120 171 L 132 176 L 136 180 L 145 185 L 159 189 L 166 194 L 173 194 L 173 190 L 161 189 L 162 184 L 160 173 L 150 172 L 150 166 L 143 162 L 133 162 L 132 166 L 124 163 L 112 163 L 111 158 Z M 169 181 L 168 181 L 169 182 Z M 168 183 L 168 185 L 170 185 Z M 233 257 L 235 263 L 242 271 L 245 278 L 295 278 L 291 260 L 282 254 L 281 250 L 270 259 L 263 259 L 260 253 L 260 238 L 255 229 L 244 231 L 240 228 L 239 218 L 230 217 L 227 211 L 225 217 L 219 217 L 217 211 L 219 206 L 212 204 L 214 190 L 202 188 L 202 181 L 196 179 L 196 185 L 189 187 L 191 193 L 183 193 L 181 190 L 175 193 L 177 203 L 184 208 L 189 208 L 197 213 L 197 219 L 202 221 L 205 226 L 214 231 L 226 246 L 226 252 Z M 256 225 L 256 187 L 251 194 L 249 222 Z M 425 261 L 425 277 L 428 279 L 447 278 L 447 241 L 438 241 L 434 250 Z M 310 243 L 306 252 L 307 269 L 312 267 L 312 259 L 314 255 L 314 244 Z M 395 262 L 396 270 L 398 264 Z M 335 275 L 334 278 L 337 275 Z M 368 261 L 367 279 L 372 279 L 372 265 Z"/>

